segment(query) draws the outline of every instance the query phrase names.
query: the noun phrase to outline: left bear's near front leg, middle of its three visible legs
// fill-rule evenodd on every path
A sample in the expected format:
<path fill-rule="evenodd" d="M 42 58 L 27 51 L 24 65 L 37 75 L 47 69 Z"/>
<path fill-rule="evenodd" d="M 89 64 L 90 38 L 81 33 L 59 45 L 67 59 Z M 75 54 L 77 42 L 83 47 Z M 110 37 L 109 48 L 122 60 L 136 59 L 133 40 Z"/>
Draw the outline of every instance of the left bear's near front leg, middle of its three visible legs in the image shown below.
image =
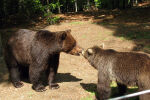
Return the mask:
<path fill-rule="evenodd" d="M 35 62 L 29 67 L 29 77 L 33 84 L 32 88 L 37 92 L 46 91 L 44 85 L 41 82 L 41 75 L 44 72 L 44 67 L 41 64 L 36 64 Z"/>

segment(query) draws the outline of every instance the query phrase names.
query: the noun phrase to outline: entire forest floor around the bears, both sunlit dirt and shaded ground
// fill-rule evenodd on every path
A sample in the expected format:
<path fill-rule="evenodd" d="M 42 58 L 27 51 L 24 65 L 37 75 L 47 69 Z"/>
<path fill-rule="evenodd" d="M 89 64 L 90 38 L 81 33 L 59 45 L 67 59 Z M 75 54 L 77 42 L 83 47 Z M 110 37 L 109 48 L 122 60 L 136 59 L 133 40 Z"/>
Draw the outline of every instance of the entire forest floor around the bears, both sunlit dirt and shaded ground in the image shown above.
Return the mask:
<path fill-rule="evenodd" d="M 150 8 L 78 14 L 60 14 L 62 21 L 58 25 L 36 23 L 29 29 L 47 29 L 50 31 L 72 30 L 72 35 L 83 48 L 101 45 L 117 51 L 138 51 L 150 53 Z M 25 28 L 25 27 L 19 27 Z M 16 30 L 13 27 L 5 30 Z M 8 71 L 0 58 L 0 100 L 94 100 L 96 93 L 97 71 L 82 56 L 61 53 L 56 82 L 57 90 L 35 92 L 31 84 L 23 82 L 22 88 L 14 88 L 8 81 Z M 112 84 L 113 94 L 116 85 Z M 136 91 L 130 88 L 128 93 Z M 136 100 L 136 99 L 131 99 Z"/>

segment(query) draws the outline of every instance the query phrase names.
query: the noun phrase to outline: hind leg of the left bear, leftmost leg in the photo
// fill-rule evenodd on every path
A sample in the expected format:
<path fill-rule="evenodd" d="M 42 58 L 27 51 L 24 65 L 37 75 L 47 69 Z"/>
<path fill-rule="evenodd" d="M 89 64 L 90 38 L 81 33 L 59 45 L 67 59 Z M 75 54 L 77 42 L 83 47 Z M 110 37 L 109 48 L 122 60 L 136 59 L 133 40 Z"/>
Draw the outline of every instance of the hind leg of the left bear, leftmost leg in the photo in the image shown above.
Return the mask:
<path fill-rule="evenodd" d="M 9 53 L 9 57 L 5 55 L 5 61 L 9 70 L 11 82 L 16 88 L 22 87 L 23 83 L 20 81 L 19 66 L 11 53 Z"/>

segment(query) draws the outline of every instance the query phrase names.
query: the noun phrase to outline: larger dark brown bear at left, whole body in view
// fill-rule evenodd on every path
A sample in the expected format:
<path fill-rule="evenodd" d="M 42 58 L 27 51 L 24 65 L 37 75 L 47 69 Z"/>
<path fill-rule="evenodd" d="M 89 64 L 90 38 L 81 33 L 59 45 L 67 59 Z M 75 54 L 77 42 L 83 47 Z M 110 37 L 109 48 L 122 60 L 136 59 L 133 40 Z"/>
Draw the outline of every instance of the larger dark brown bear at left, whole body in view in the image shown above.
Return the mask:
<path fill-rule="evenodd" d="M 45 91 L 41 77 L 46 73 L 49 87 L 59 88 L 54 82 L 59 65 L 60 52 L 79 55 L 81 48 L 71 35 L 71 30 L 50 32 L 19 29 L 8 40 L 4 55 L 10 79 L 16 88 L 22 87 L 21 75 L 28 69 L 29 79 L 35 91 Z"/>

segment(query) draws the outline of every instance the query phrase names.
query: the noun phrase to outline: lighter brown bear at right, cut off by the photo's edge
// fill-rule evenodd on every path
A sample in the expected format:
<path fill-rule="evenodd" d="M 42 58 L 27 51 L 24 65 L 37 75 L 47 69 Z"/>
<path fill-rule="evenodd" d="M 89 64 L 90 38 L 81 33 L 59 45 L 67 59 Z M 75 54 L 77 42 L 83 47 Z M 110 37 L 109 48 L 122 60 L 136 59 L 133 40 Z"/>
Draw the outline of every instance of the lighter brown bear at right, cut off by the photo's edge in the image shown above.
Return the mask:
<path fill-rule="evenodd" d="M 111 94 L 111 81 L 116 81 L 120 95 L 127 86 L 138 86 L 139 91 L 150 89 L 150 58 L 135 52 L 117 52 L 93 46 L 82 52 L 89 63 L 98 70 L 98 100 L 106 100 Z M 140 100 L 149 100 L 150 94 Z"/>

